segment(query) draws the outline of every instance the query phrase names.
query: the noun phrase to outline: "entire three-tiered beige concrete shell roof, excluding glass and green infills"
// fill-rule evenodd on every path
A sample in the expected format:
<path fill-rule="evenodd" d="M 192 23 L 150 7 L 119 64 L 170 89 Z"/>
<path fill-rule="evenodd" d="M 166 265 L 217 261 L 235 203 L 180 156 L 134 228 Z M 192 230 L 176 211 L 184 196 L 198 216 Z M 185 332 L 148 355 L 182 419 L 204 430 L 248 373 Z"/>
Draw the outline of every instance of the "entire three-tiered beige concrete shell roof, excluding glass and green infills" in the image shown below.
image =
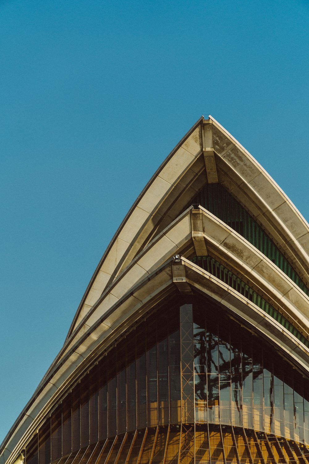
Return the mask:
<path fill-rule="evenodd" d="M 205 183 L 218 182 L 268 232 L 308 284 L 308 223 L 232 135 L 211 116 L 199 119 L 148 182 L 108 245 L 63 348 L 1 445 L 1 463 L 13 463 L 95 357 L 173 292 L 206 292 L 308 372 L 306 346 L 252 301 L 189 260 L 210 253 L 246 279 L 309 340 L 309 297 L 231 227 L 202 206 L 190 206 Z M 175 255 L 181 258 L 174 260 Z"/>

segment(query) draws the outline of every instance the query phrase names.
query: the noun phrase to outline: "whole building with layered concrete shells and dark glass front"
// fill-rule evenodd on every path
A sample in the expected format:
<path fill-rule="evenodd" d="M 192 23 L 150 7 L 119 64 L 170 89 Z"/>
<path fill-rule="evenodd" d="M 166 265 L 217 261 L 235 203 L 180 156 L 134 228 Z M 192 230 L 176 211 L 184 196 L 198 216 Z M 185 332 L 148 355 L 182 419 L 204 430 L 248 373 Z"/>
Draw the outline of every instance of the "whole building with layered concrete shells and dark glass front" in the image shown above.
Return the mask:
<path fill-rule="evenodd" d="M 0 464 L 308 463 L 309 226 L 211 116 L 108 245 Z"/>

